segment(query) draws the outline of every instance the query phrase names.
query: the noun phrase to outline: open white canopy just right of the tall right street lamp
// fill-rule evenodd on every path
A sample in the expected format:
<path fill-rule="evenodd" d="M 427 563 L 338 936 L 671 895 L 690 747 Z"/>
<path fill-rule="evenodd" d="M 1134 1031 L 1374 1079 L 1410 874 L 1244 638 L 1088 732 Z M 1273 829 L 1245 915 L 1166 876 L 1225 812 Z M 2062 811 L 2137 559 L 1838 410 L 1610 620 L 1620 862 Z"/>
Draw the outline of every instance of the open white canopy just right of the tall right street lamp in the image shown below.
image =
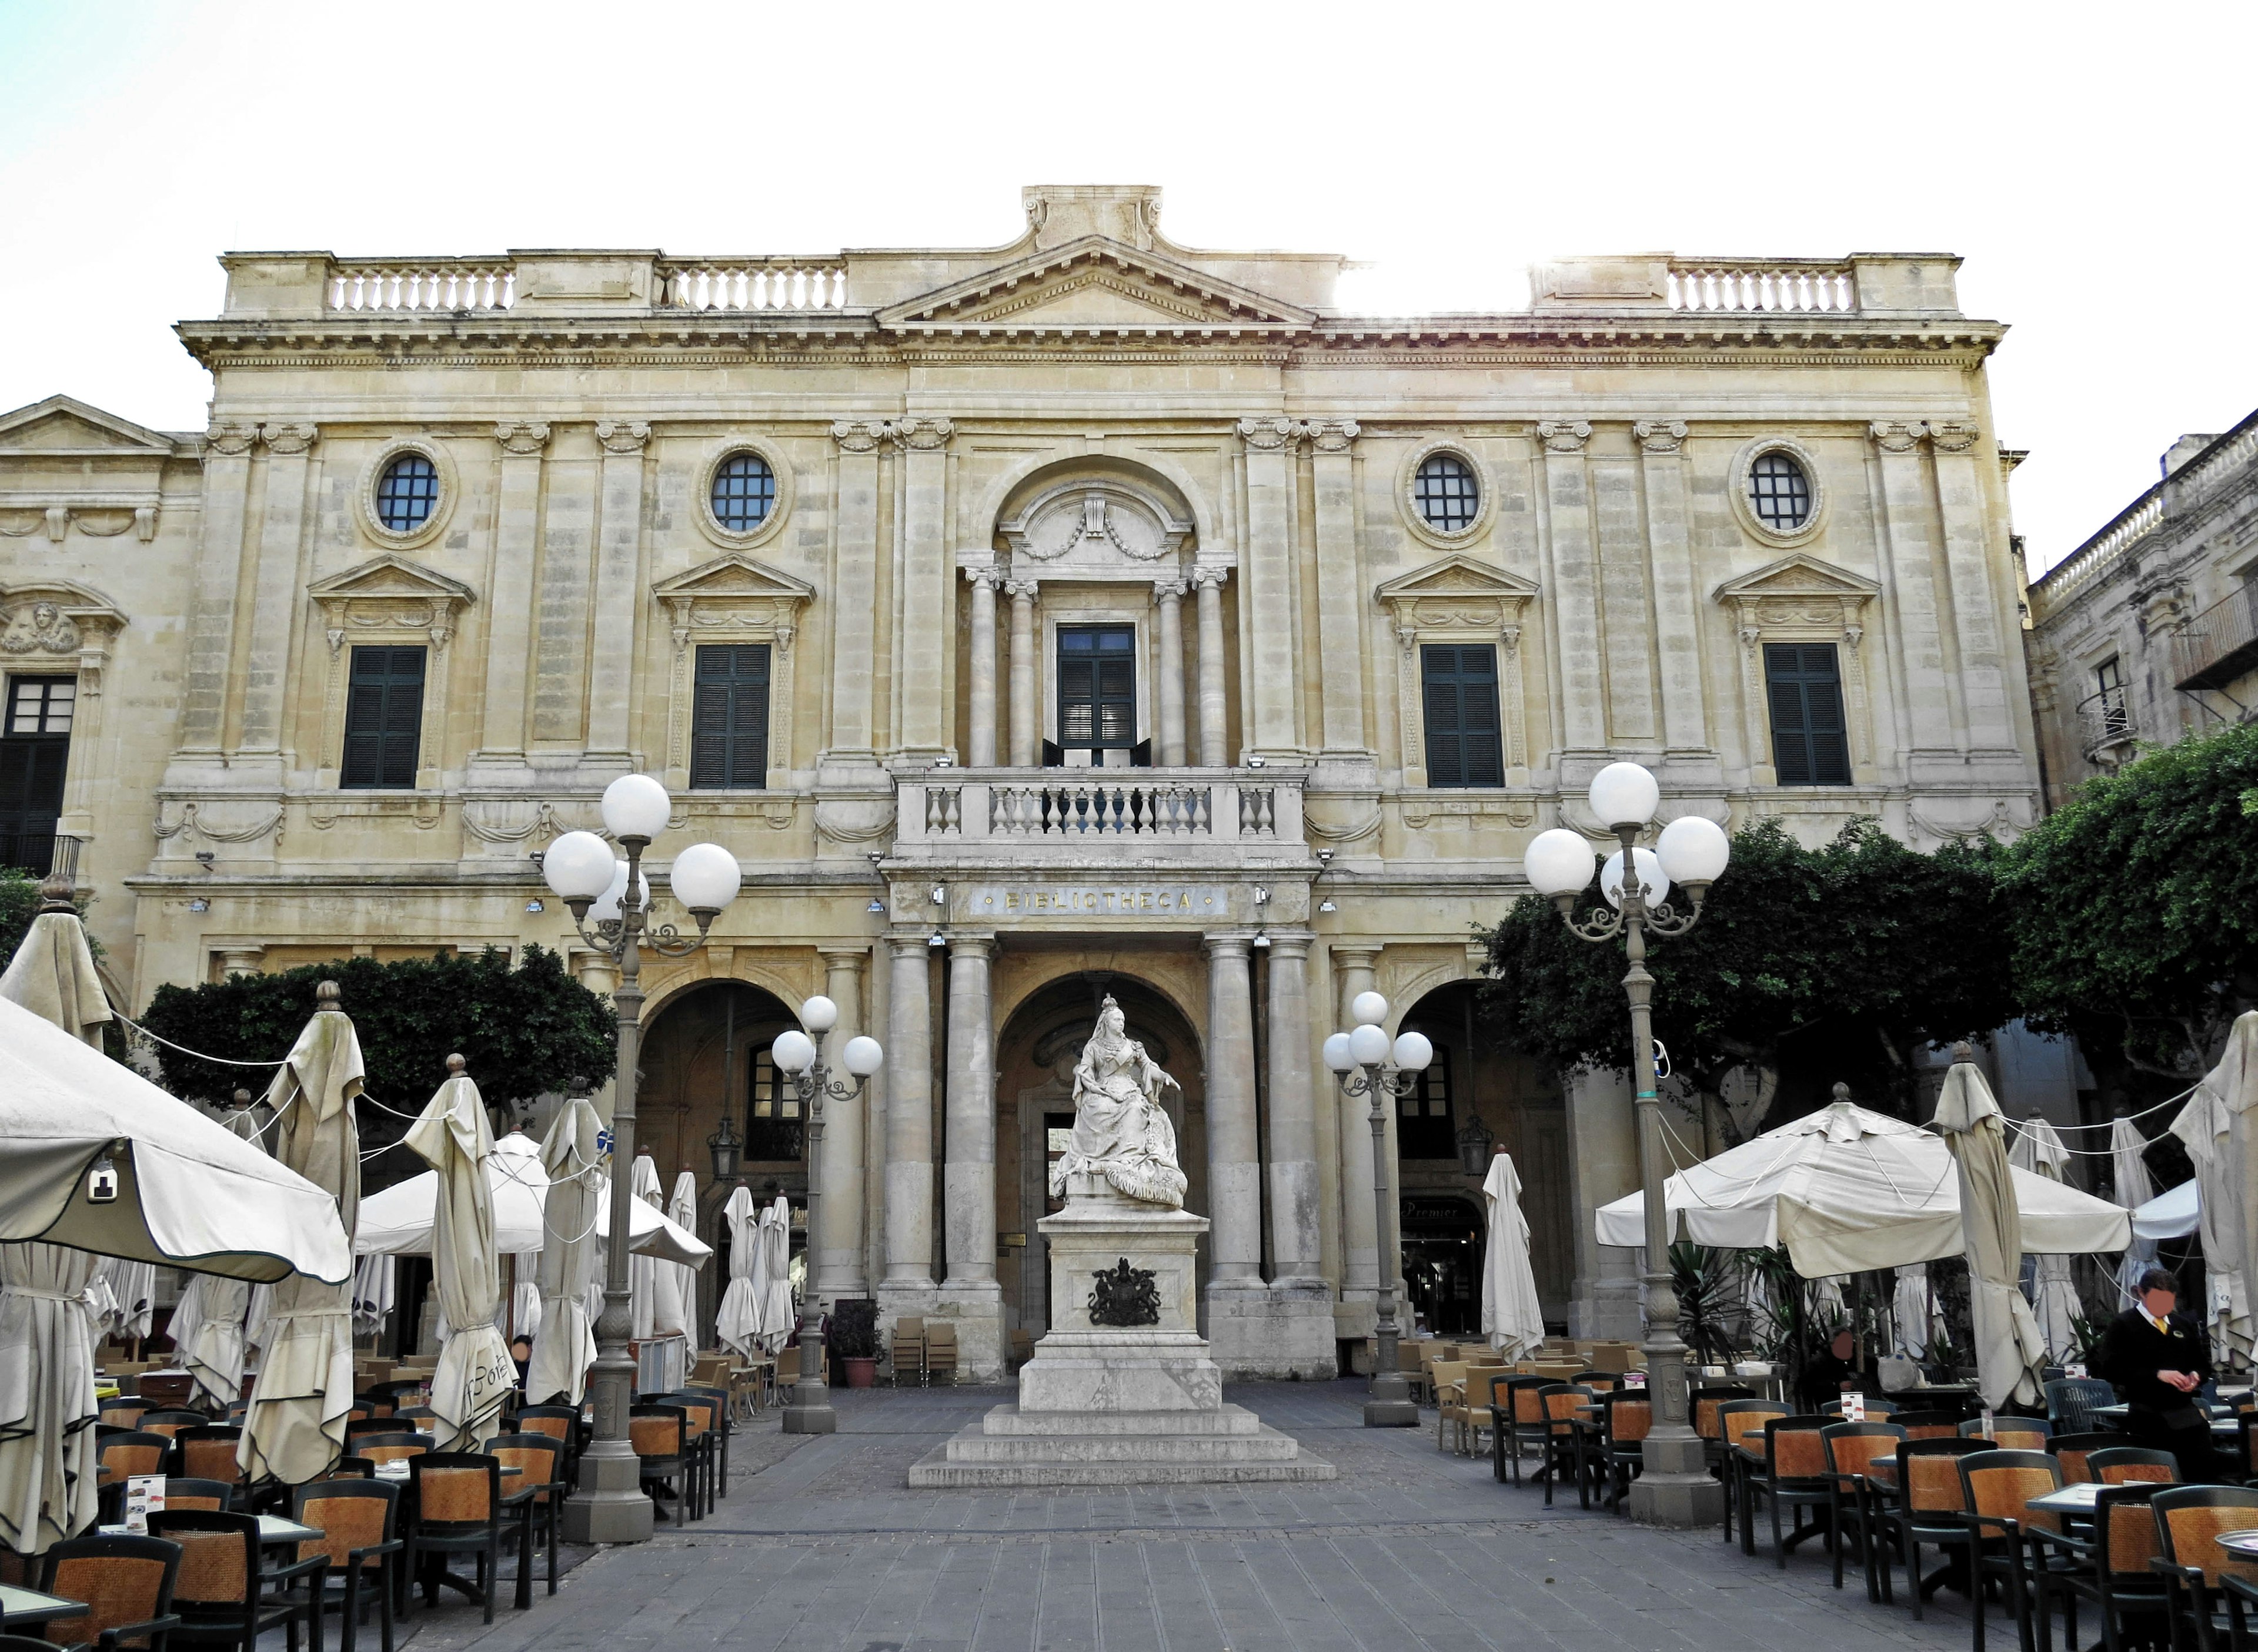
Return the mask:
<path fill-rule="evenodd" d="M 1784 1244 L 1806 1280 L 1935 1262 L 1967 1246 L 1944 1140 L 1852 1101 L 1678 1171 L 1664 1201 L 1673 1239 L 1730 1250 Z M 2030 1171 L 2014 1171 L 2014 1203 L 2032 1253 L 2123 1250 L 2132 1239 L 2123 1207 Z M 1599 1241 L 1646 1244 L 1639 1194 L 1599 1207 Z"/>

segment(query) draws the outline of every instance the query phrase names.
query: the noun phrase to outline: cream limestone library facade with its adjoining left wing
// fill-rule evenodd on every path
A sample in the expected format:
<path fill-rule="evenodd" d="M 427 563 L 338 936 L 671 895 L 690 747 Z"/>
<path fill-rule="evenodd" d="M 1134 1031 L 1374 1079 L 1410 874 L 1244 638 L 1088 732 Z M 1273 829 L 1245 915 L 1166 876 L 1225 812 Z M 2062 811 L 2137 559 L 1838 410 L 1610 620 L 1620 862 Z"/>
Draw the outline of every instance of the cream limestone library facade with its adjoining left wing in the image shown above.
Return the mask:
<path fill-rule="evenodd" d="M 1628 1090 L 1474 1007 L 1529 835 L 1601 837 L 1614 758 L 1813 842 L 2039 806 L 2003 327 L 1951 257 L 1572 260 L 1389 318 L 1339 257 L 1036 187 L 989 251 L 224 264 L 178 329 L 208 429 L 0 418 L 11 858 L 84 842 L 131 1002 L 531 943 L 605 986 L 535 860 L 657 774 L 662 910 L 680 844 L 747 878 L 644 973 L 641 1140 L 704 1176 L 727 1110 L 802 1189 L 765 1047 L 826 991 L 887 1065 L 826 1117 L 817 1291 L 957 1318 L 978 1374 L 1045 1325 L 1104 993 L 1183 1083 L 1228 1370 L 1330 1374 L 1398 1257 L 1472 1329 L 1484 1133 L 1547 1313 L 1619 1334 Z M 1366 988 L 1441 1052 L 1386 1216 L 1319 1056 Z"/>

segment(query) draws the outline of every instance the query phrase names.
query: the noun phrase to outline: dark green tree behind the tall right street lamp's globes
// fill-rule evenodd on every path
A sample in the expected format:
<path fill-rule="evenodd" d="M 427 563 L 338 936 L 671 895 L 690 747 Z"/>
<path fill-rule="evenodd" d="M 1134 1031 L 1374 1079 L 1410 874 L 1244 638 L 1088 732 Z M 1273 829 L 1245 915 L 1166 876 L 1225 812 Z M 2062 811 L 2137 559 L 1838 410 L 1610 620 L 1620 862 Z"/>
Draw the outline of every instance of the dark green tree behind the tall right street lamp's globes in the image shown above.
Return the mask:
<path fill-rule="evenodd" d="M 1761 1119 L 1784 1045 L 1820 1043 L 1838 1065 L 1879 1065 L 1899 1110 L 1910 1110 L 1915 1049 L 2016 1013 L 1992 916 L 1996 853 L 1949 844 L 1924 855 L 1872 819 L 1820 849 L 1777 821 L 1736 833 L 1700 923 L 1648 941 L 1655 1036 L 1673 1072 L 1716 1099 L 1730 1072 L 1754 1070 Z M 1578 896 L 1578 916 L 1596 907 L 1594 885 Z M 1558 1067 L 1630 1065 L 1621 939 L 1594 946 L 1569 934 L 1538 896 L 1486 939 L 1488 1007 L 1515 1045 Z"/>

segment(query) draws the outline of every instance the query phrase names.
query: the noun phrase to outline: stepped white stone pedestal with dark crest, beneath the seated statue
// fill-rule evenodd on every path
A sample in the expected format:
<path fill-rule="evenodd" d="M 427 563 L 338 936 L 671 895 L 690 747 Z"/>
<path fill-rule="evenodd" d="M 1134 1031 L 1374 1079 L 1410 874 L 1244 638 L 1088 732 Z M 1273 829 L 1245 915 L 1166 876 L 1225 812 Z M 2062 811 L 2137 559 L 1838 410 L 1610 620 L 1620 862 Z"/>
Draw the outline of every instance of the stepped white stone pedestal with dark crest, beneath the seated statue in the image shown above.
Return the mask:
<path fill-rule="evenodd" d="M 912 1465 L 910 1485 L 1330 1480 L 1330 1462 L 1224 1404 L 1224 1374 L 1197 1320 L 1206 1219 L 1082 1176 L 1066 1198 L 1064 1212 L 1036 1223 L 1050 1248 L 1054 1323 L 1018 1372 L 1018 1404 L 996 1406 Z M 1113 1323 L 1124 1318 L 1134 1323 Z"/>

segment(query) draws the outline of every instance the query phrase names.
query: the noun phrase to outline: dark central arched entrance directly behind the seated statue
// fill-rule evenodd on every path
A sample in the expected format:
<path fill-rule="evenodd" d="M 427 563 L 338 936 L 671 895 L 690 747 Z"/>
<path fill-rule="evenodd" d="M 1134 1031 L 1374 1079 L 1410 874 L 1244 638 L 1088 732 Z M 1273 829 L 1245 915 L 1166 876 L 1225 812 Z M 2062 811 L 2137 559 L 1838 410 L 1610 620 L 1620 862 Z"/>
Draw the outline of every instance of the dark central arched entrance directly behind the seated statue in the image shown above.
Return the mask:
<path fill-rule="evenodd" d="M 1190 1180 L 1183 1203 L 1194 1212 L 1208 1207 L 1208 1108 L 1192 1022 L 1134 975 L 1075 970 L 1039 986 L 996 1038 L 996 1280 L 1005 1325 L 1030 1338 L 1050 1327 L 1050 1266 L 1036 1230 L 1061 1207 L 1050 1198 L 1050 1160 L 1073 1131 L 1075 1063 L 1109 995 L 1122 1007 L 1129 1036 L 1181 1086 L 1167 1092 L 1165 1108 L 1176 1128 L 1176 1160 Z"/>

